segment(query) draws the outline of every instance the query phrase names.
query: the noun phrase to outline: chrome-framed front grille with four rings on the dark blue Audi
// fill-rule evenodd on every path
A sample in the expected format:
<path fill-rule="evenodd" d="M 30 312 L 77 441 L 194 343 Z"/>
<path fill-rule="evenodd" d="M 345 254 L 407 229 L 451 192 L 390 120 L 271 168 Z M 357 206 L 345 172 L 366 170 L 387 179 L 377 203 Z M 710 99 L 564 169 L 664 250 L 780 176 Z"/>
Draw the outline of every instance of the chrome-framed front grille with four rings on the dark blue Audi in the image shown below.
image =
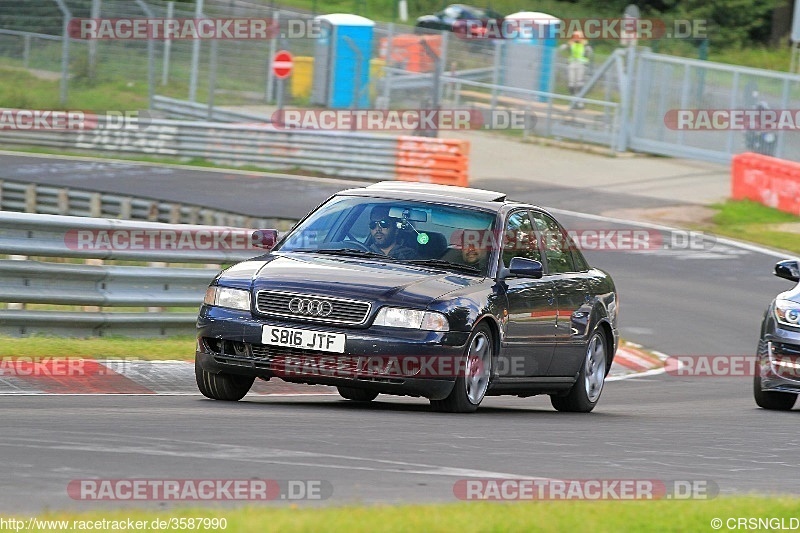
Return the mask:
<path fill-rule="evenodd" d="M 256 311 L 260 314 L 310 322 L 360 325 L 367 321 L 370 307 L 369 302 L 315 294 L 281 291 L 256 294 Z"/>

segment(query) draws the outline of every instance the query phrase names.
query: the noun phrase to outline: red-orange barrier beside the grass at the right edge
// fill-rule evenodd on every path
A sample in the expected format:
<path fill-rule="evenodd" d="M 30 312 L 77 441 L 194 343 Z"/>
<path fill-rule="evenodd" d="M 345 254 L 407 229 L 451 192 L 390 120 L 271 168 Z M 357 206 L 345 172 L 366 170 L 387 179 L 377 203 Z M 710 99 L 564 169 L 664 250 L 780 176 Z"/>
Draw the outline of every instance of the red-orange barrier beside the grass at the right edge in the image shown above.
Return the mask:
<path fill-rule="evenodd" d="M 745 152 L 733 156 L 734 200 L 748 199 L 800 215 L 800 163 Z"/>

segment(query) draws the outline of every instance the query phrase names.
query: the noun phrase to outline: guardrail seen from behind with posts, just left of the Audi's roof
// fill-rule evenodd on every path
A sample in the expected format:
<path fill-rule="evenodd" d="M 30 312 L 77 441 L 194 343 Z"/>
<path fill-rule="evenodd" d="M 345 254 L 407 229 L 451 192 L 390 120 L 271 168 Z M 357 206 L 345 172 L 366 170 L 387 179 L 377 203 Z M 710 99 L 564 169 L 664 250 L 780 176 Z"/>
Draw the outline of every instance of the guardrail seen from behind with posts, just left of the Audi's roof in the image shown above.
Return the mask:
<path fill-rule="evenodd" d="M 280 230 L 289 229 L 295 222 L 288 219 L 251 217 L 197 205 L 4 179 L 0 179 L 0 210 Z"/>

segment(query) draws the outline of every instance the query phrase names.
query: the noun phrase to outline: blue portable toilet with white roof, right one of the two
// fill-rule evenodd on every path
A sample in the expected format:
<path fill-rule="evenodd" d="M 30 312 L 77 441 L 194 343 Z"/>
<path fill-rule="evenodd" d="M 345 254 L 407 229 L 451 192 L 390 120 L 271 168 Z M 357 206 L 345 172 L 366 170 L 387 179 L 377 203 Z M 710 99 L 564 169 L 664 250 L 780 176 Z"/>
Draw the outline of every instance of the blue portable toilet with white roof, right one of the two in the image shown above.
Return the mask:
<path fill-rule="evenodd" d="M 506 41 L 503 83 L 520 89 L 553 92 L 561 19 L 547 13 L 520 11 L 508 15 L 505 20 L 516 31 L 510 35 L 512 39 Z"/>

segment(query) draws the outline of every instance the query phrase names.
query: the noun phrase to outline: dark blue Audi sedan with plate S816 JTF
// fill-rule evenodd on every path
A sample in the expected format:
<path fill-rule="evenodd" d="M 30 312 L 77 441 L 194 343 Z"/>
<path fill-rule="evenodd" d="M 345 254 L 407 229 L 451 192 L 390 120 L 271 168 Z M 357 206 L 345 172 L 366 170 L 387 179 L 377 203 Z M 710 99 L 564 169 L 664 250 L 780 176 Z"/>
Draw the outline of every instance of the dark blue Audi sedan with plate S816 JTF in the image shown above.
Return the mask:
<path fill-rule="evenodd" d="M 502 193 L 407 182 L 340 192 L 269 253 L 221 272 L 197 321 L 197 385 L 240 400 L 256 378 L 360 402 L 487 395 L 597 404 L 617 294 L 547 211 Z"/>

